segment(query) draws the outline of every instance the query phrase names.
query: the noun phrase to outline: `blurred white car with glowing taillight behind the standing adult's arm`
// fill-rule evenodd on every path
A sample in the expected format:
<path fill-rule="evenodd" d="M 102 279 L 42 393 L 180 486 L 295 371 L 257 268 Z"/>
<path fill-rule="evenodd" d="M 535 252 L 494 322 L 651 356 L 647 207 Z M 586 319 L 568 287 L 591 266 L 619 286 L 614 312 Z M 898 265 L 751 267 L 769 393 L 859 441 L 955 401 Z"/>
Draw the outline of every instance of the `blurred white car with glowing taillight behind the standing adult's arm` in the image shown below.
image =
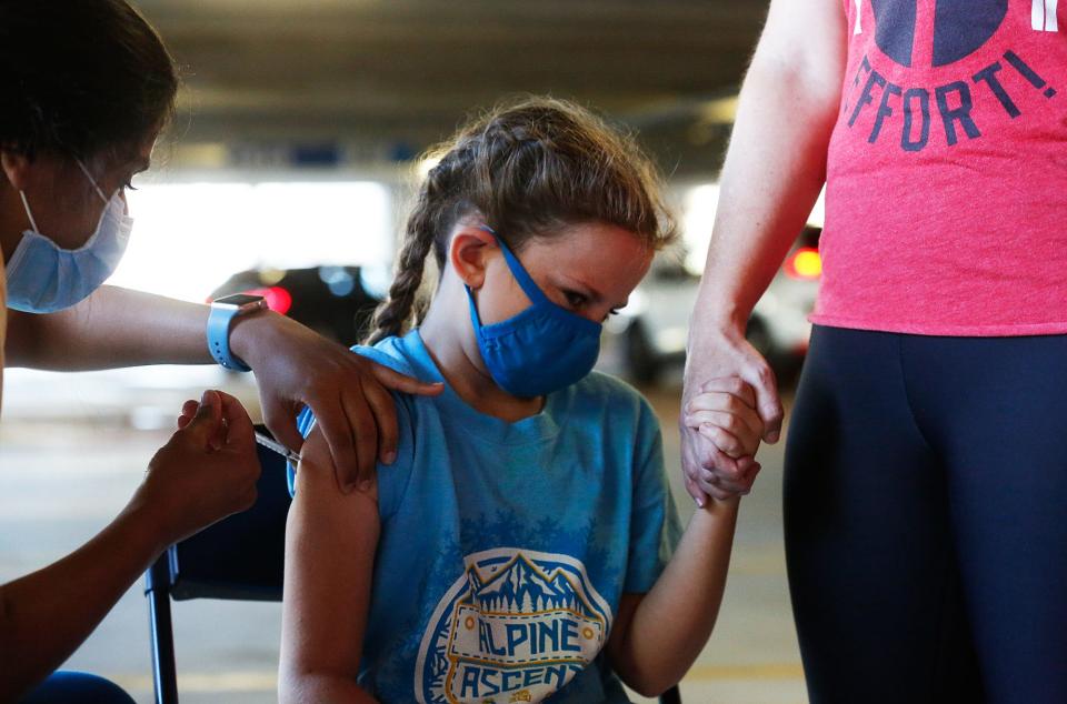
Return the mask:
<path fill-rule="evenodd" d="M 789 382 L 808 349 L 822 266 L 818 242 L 821 229 L 808 227 L 797 239 L 748 322 L 748 341 Z M 685 360 L 689 315 L 700 278 L 682 264 L 677 251 L 652 263 L 648 276 L 630 295 L 630 303 L 612 319 L 626 373 L 639 383 L 655 382 L 660 372 Z"/>

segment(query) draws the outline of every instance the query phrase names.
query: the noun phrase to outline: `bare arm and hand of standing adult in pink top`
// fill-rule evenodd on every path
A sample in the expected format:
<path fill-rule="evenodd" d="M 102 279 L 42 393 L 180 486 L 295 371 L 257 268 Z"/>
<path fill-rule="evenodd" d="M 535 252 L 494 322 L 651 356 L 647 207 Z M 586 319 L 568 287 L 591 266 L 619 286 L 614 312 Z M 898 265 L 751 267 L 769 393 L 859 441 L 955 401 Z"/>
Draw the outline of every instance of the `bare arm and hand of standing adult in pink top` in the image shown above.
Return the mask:
<path fill-rule="evenodd" d="M 719 207 L 686 358 L 682 405 L 714 378 L 739 375 L 776 442 L 782 409 L 767 361 L 745 340 L 752 306 L 774 279 L 826 180 L 848 34 L 841 0 L 772 0 L 741 87 L 722 168 Z M 686 487 L 694 499 L 726 497 L 701 477 L 738 472 L 712 442 L 681 429 Z M 748 482 L 750 484 L 750 482 Z"/>

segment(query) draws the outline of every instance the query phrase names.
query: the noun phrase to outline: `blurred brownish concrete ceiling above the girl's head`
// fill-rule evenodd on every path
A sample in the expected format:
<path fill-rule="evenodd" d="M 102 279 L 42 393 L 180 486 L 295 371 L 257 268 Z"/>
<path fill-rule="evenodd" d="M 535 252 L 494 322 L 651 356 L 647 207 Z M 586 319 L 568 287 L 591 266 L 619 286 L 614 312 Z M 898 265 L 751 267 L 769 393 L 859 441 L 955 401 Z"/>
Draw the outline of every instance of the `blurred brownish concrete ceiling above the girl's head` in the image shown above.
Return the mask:
<path fill-rule="evenodd" d="M 764 0 L 140 0 L 182 64 L 181 140 L 420 150 L 518 92 L 714 170 Z"/>

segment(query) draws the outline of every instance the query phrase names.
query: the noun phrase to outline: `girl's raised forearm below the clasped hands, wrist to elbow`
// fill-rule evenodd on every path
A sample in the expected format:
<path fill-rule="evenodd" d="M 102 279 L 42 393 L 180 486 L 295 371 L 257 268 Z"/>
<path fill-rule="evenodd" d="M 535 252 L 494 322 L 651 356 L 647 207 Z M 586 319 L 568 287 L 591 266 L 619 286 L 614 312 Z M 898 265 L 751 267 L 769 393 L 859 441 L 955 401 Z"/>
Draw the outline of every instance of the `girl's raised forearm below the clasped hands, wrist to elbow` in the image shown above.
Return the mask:
<path fill-rule="evenodd" d="M 726 589 L 738 502 L 698 509 L 652 590 L 622 595 L 608 656 L 639 694 L 659 696 L 676 685 L 708 642 Z"/>

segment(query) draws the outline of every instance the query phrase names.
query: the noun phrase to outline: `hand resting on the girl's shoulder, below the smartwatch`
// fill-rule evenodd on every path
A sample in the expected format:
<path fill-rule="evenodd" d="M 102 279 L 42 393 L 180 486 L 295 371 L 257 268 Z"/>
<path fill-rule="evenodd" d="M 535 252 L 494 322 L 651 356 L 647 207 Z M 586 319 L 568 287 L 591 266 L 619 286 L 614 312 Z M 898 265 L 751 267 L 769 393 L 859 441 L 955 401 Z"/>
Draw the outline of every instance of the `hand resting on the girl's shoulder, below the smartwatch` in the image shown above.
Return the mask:
<path fill-rule="evenodd" d="M 256 372 L 263 422 L 278 442 L 300 451 L 303 438 L 296 418 L 305 405 L 311 408 L 346 492 L 369 481 L 378 461 L 396 461 L 397 413 L 390 391 L 443 390 L 353 354 L 273 312 L 239 318 L 230 344 Z"/>

